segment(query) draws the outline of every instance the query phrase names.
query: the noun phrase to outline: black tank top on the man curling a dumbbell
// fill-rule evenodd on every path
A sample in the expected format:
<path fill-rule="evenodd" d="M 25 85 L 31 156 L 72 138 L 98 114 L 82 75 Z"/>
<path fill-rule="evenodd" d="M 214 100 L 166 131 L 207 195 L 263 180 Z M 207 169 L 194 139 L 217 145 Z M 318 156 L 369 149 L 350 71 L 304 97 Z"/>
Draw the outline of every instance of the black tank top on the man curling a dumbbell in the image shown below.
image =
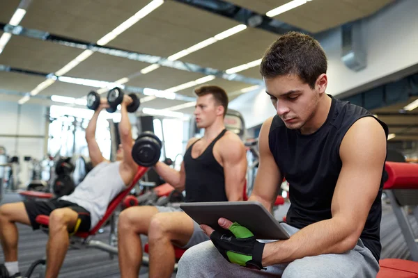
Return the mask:
<path fill-rule="evenodd" d="M 192 158 L 192 148 L 186 150 L 183 161 L 186 172 L 185 202 L 226 202 L 224 167 L 213 156 L 215 142 L 224 136 L 224 129 L 198 158 Z"/>

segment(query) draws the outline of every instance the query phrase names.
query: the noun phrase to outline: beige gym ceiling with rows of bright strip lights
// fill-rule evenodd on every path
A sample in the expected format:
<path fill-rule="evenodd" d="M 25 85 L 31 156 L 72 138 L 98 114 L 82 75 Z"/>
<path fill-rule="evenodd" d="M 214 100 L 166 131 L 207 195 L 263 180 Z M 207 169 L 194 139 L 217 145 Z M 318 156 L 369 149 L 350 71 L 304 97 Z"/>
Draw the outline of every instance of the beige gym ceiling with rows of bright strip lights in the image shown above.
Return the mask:
<path fill-rule="evenodd" d="M 104 86 L 119 83 L 139 94 L 142 108 L 192 113 L 199 83 L 222 86 L 230 99 L 260 85 L 259 59 L 284 31 L 318 35 L 392 1 L 297 0 L 306 3 L 273 16 L 289 0 L 3 0 L 0 36 L 13 35 L 0 39 L 0 95 L 83 104 L 89 91 L 105 96 Z M 18 8 L 26 10 L 20 22 Z"/>

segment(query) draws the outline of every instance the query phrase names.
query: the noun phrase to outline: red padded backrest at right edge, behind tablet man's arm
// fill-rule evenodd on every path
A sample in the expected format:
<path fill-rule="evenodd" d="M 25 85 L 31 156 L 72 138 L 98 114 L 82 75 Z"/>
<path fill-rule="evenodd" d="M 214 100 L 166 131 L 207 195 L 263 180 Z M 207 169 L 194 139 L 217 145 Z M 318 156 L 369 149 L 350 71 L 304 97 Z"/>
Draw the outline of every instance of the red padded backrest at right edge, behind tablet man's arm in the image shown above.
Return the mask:
<path fill-rule="evenodd" d="M 387 162 L 384 189 L 418 189 L 418 164 Z"/>

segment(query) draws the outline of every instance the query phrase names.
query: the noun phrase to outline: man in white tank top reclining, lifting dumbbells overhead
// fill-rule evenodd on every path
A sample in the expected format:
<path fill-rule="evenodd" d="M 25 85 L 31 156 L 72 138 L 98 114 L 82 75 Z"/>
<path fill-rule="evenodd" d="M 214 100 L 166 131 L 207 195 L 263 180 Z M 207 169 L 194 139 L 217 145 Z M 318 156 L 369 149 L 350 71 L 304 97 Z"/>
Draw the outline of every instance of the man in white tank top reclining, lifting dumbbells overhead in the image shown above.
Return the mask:
<path fill-rule="evenodd" d="M 132 133 L 126 107 L 132 102 L 124 95 L 121 104 L 121 122 L 118 125 L 121 145 L 116 162 L 110 163 L 103 158 L 95 140 L 96 122 L 100 111 L 109 107 L 106 99 L 93 114 L 86 129 L 88 152 L 93 170 L 84 181 L 68 196 L 47 202 L 28 200 L 0 206 L 0 240 L 6 259 L 8 277 L 20 277 L 17 264 L 18 232 L 15 222 L 31 225 L 39 229 L 38 215 L 49 215 L 49 239 L 47 243 L 46 278 L 58 277 L 59 270 L 68 250 L 69 234 L 77 231 L 89 231 L 103 217 L 111 199 L 129 186 L 138 166 L 132 160 Z"/>

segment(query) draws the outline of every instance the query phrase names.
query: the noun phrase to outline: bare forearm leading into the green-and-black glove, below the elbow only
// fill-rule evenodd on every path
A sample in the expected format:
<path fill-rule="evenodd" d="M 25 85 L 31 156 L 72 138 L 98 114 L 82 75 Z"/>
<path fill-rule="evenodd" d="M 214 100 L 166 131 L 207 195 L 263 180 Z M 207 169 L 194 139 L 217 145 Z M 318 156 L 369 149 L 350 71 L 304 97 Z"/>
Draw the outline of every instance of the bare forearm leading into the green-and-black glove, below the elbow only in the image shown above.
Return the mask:
<path fill-rule="evenodd" d="M 332 218 L 310 224 L 288 240 L 268 243 L 264 247 L 263 265 L 288 263 L 305 256 L 342 254 L 352 250 L 358 238 L 353 236 L 353 225 Z"/>

